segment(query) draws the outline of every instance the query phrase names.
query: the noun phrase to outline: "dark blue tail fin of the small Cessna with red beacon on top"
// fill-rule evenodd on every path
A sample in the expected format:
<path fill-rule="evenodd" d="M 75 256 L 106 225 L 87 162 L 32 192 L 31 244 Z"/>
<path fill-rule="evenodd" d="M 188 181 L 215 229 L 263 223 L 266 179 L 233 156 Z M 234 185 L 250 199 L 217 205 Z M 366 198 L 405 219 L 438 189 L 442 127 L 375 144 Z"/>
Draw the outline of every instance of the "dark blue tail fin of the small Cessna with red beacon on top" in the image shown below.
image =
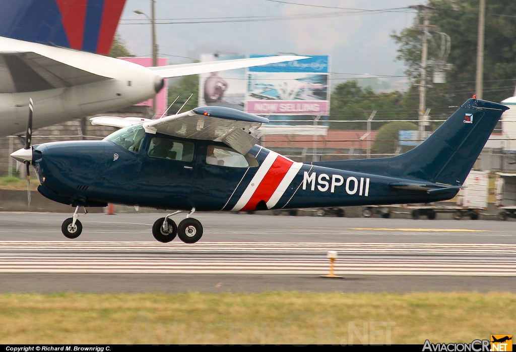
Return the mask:
<path fill-rule="evenodd" d="M 508 107 L 466 101 L 420 146 L 389 158 L 314 163 L 404 179 L 462 185 L 496 123 Z"/>

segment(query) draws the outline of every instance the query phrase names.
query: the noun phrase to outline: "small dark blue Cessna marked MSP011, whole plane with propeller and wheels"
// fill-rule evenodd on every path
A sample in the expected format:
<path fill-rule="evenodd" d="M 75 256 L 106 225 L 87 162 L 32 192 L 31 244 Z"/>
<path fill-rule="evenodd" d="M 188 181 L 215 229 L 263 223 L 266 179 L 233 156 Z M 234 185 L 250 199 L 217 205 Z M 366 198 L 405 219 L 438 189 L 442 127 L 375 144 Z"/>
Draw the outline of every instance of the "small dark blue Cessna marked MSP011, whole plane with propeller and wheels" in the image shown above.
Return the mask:
<path fill-rule="evenodd" d="M 388 158 L 298 163 L 256 145 L 268 119 L 243 111 L 197 107 L 157 120 L 93 118 L 123 127 L 101 141 L 63 141 L 11 154 L 32 165 L 39 192 L 75 206 L 61 230 L 79 236 L 80 206 L 117 203 L 174 210 L 152 228 L 160 242 L 202 236 L 198 211 L 253 211 L 428 203 L 453 198 L 507 107 L 466 101 L 426 141 Z M 187 212 L 176 226 L 171 216 Z"/>

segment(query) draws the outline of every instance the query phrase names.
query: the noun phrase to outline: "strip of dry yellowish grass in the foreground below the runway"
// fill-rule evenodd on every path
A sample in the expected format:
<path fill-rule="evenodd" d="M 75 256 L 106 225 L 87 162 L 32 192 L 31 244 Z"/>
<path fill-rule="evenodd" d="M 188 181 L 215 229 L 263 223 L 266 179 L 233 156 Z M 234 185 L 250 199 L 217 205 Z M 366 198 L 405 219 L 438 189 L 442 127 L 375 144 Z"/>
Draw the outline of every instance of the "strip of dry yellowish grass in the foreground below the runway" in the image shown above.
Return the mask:
<path fill-rule="evenodd" d="M 514 331 L 513 293 L 0 295 L 0 344 L 423 344 Z"/>

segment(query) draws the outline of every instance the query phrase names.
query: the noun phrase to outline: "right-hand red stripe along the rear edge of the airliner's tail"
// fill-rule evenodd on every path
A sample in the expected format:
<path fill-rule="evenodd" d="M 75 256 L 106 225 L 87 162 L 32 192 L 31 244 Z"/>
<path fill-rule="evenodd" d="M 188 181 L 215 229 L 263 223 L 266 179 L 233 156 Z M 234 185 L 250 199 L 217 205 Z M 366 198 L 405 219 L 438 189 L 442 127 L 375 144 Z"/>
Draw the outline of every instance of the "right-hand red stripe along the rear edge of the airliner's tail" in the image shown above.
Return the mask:
<path fill-rule="evenodd" d="M 102 22 L 100 24 L 99 41 L 97 42 L 96 52 L 98 54 L 109 54 L 124 5 L 125 0 L 105 0 L 104 11 L 102 11 Z"/>

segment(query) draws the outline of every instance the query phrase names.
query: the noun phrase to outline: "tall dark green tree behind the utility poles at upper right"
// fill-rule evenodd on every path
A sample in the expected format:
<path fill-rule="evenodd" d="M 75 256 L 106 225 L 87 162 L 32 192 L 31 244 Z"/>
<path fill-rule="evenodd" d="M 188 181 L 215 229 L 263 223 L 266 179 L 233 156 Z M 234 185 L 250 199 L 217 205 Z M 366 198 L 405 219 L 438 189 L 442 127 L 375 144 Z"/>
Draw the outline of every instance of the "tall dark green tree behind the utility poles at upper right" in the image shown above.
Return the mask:
<path fill-rule="evenodd" d="M 447 117 L 448 105 L 460 105 L 475 92 L 478 0 L 429 0 L 430 24 L 451 38 L 446 84 L 430 84 L 427 107 L 432 117 Z M 516 84 L 516 2 L 513 0 L 488 1 L 486 7 L 486 36 L 484 51 L 483 99 L 495 102 L 511 97 Z M 416 24 L 422 24 L 418 13 Z M 406 74 L 413 85 L 419 83 L 421 68 L 422 30 L 405 28 L 392 36 L 400 45 L 398 59 L 405 61 Z M 435 60 L 440 46 L 439 35 L 429 41 L 429 59 Z M 427 77 L 431 78 L 431 66 Z M 431 82 L 431 81 L 430 81 Z M 417 88 L 415 89 L 417 91 Z M 417 106 L 417 94 L 407 94 L 404 105 Z"/>

